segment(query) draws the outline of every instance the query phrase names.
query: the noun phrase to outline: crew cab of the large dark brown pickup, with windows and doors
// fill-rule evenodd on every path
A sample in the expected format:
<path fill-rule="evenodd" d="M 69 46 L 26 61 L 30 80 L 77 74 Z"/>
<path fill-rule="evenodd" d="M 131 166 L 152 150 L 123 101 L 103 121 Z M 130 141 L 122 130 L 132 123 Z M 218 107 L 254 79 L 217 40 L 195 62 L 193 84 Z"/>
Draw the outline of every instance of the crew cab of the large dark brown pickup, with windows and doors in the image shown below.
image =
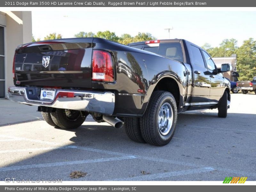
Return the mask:
<path fill-rule="evenodd" d="M 201 47 L 184 39 L 151 40 L 128 45 L 184 63 L 187 68 L 188 95 L 183 111 L 202 109 L 205 106 L 217 108 L 216 105 L 226 89 L 229 107 L 230 82 Z"/>

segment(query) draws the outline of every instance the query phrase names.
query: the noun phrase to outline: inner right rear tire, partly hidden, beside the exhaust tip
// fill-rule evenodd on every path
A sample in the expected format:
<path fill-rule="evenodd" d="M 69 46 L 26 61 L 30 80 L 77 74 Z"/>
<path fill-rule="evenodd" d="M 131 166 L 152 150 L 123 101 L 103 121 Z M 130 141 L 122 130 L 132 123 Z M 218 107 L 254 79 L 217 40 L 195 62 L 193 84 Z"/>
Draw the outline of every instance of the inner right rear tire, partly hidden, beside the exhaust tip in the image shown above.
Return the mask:
<path fill-rule="evenodd" d="M 124 117 L 123 120 L 126 135 L 135 142 L 146 143 L 140 131 L 140 118 Z"/>

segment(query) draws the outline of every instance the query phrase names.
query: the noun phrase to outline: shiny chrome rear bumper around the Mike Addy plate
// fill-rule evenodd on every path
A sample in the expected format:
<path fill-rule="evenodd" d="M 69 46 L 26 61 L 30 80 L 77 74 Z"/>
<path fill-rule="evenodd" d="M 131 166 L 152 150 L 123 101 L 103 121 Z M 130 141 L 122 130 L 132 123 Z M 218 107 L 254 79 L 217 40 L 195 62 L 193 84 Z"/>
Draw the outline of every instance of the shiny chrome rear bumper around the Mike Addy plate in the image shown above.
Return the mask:
<path fill-rule="evenodd" d="M 112 115 L 115 108 L 115 94 L 111 92 L 55 89 L 54 99 L 45 101 L 29 99 L 26 87 L 9 87 L 7 98 L 28 105 L 91 111 L 104 115 Z"/>

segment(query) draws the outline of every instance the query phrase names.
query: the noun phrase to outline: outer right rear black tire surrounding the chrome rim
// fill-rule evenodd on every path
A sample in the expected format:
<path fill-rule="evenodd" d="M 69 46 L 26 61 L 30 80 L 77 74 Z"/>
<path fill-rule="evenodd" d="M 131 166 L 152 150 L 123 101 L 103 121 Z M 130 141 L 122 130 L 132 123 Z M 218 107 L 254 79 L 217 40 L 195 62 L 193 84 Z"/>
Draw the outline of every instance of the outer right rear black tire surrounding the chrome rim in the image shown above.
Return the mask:
<path fill-rule="evenodd" d="M 160 115 L 160 110 L 163 112 L 165 105 L 169 106 L 169 109 L 171 109 L 172 121 L 170 121 L 169 129 L 167 129 L 169 131 L 166 134 L 163 134 L 160 132 L 158 117 Z M 173 95 L 170 92 L 165 91 L 153 92 L 147 110 L 140 119 L 140 130 L 143 139 L 151 145 L 164 146 L 168 144 L 175 131 L 177 116 L 177 105 Z M 167 121 L 167 124 L 169 124 L 169 120 Z"/>

